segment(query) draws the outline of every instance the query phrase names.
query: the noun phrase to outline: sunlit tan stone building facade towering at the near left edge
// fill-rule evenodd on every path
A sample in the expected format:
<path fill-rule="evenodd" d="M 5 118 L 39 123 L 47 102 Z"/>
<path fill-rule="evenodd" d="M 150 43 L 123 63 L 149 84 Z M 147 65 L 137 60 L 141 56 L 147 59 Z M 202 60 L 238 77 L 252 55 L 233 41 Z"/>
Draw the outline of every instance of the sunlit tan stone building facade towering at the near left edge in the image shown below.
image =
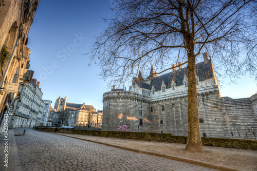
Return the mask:
<path fill-rule="evenodd" d="M 3 4 L 4 3 L 4 4 Z M 0 54 L 7 50 L 6 60 L 2 60 L 0 72 L 0 87 L 5 83 L 23 82 L 24 67 L 28 56 L 28 32 L 38 7 L 39 0 L 5 0 L 0 2 Z M 17 78 L 15 79 L 15 74 Z M 1 89 L 2 91 L 3 89 Z M 0 92 L 0 132 L 3 127 L 3 117 L 11 111 L 11 103 L 16 93 Z"/>

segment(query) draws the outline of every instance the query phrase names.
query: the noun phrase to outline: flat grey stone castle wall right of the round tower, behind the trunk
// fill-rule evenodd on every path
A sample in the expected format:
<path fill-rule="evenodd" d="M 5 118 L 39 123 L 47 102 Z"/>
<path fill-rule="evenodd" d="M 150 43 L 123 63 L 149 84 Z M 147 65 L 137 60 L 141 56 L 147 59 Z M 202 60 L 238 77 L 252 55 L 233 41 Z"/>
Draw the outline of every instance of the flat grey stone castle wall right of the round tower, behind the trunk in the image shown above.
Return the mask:
<path fill-rule="evenodd" d="M 201 136 L 206 134 L 207 137 L 256 139 L 257 117 L 250 98 L 218 96 L 218 91 L 198 94 Z M 150 106 L 153 107 L 153 112 L 150 112 L 153 132 L 187 136 L 187 96 L 154 101 Z"/>

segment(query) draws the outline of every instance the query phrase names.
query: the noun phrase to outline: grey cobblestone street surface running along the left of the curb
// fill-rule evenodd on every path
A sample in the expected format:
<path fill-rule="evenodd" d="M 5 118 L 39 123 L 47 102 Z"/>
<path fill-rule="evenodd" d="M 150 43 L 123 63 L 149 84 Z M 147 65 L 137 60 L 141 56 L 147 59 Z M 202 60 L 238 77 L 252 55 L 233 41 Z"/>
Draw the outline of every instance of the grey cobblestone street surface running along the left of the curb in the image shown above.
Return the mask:
<path fill-rule="evenodd" d="M 26 171 L 215 170 L 33 129 L 26 129 L 25 136 L 15 136 L 15 140 Z"/>

